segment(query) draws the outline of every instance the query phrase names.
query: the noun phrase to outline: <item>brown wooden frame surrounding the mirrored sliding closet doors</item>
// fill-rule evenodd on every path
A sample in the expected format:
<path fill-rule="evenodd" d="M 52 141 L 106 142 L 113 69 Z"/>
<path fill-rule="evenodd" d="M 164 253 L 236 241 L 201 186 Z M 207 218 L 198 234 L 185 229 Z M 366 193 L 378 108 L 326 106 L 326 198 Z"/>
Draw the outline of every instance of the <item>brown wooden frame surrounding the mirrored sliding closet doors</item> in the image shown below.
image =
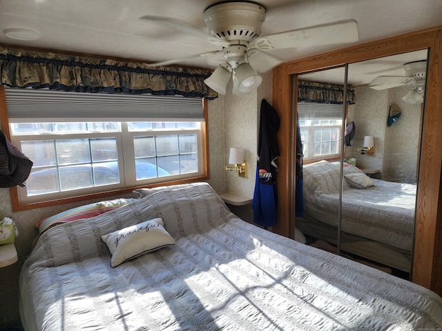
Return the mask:
<path fill-rule="evenodd" d="M 280 197 L 278 223 L 272 230 L 293 238 L 291 201 L 294 201 L 294 192 L 291 190 L 291 165 L 294 164 L 296 146 L 287 141 L 291 141 L 291 125 L 296 119 L 295 74 L 427 48 L 430 49 L 430 54 L 420 150 L 412 277 L 414 283 L 442 295 L 442 26 L 290 61 L 273 69 L 273 107 L 278 112 L 281 123 L 277 135 L 281 157 L 278 158 L 279 172 L 276 177 Z"/>

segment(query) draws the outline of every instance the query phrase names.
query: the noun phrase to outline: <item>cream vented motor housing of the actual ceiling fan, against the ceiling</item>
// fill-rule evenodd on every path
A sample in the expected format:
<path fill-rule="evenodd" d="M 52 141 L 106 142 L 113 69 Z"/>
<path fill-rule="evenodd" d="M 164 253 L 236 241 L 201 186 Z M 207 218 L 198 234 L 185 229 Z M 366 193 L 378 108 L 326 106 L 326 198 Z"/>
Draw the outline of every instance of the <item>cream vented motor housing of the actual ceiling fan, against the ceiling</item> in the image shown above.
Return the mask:
<path fill-rule="evenodd" d="M 247 45 L 260 37 L 266 10 L 257 3 L 218 3 L 204 11 L 209 34 L 217 39 Z"/>

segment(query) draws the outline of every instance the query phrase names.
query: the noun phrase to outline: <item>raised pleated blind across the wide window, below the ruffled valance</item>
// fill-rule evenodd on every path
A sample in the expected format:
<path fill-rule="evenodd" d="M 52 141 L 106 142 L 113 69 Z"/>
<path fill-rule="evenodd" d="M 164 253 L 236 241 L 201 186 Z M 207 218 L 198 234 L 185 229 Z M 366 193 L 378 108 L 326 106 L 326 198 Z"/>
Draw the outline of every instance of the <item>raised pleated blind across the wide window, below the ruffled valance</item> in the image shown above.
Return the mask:
<path fill-rule="evenodd" d="M 10 120 L 204 121 L 201 98 L 5 88 Z"/>

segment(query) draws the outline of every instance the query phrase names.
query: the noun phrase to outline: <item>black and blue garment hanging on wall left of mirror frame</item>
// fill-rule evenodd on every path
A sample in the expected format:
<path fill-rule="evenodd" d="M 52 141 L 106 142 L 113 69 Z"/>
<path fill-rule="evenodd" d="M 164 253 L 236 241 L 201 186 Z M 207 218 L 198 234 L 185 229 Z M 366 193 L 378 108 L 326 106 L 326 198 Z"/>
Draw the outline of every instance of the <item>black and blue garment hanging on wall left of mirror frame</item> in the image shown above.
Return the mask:
<path fill-rule="evenodd" d="M 276 133 L 280 121 L 276 110 L 262 99 L 260 109 L 260 131 L 258 140 L 258 165 L 256 169 L 255 192 L 253 194 L 253 221 L 264 227 L 276 224 L 276 189 L 275 160 L 280 157 Z"/>

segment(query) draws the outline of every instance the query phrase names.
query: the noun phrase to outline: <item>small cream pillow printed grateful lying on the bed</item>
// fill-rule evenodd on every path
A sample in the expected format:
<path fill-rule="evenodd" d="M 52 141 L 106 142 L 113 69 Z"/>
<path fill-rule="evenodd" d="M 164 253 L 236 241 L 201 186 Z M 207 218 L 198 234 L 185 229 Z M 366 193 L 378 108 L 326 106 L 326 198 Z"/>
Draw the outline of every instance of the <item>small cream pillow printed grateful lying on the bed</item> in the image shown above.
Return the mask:
<path fill-rule="evenodd" d="M 136 225 L 129 226 L 102 235 L 112 254 L 111 267 L 140 257 L 143 254 L 154 252 L 166 245 L 173 245 L 175 240 L 164 229 L 161 218 L 151 219 Z"/>

